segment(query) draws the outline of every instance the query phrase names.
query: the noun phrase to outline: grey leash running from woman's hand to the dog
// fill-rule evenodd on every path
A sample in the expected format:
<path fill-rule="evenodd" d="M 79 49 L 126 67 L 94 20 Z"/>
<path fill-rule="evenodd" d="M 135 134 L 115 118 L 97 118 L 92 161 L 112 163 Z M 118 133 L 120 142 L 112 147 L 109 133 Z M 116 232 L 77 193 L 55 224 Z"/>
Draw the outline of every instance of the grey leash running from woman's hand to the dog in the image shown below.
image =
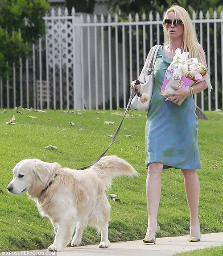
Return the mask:
<path fill-rule="evenodd" d="M 136 86 L 137 86 L 138 84 L 140 84 L 140 81 L 137 79 L 137 80 L 136 80 L 136 83 L 134 84 L 134 86 L 133 86 L 133 88 L 132 88 L 132 92 L 131 92 L 131 95 L 130 95 L 130 97 L 129 97 L 128 104 L 127 104 L 127 106 L 126 106 L 126 109 L 125 109 L 125 113 L 124 113 L 124 115 L 123 115 L 123 118 L 122 118 L 122 120 L 121 120 L 121 122 L 120 122 L 120 125 L 118 126 L 118 128 L 117 128 L 117 130 L 116 130 L 116 132 L 115 132 L 115 134 L 114 134 L 114 136 L 113 136 L 113 138 L 112 138 L 112 140 L 111 140 L 111 142 L 110 142 L 108 148 L 95 160 L 95 162 L 94 162 L 93 164 L 96 164 L 96 163 L 103 157 L 103 155 L 105 155 L 105 153 L 109 150 L 109 148 L 111 147 L 111 145 L 114 143 L 114 141 L 115 141 L 115 139 L 116 139 L 116 137 L 117 137 L 117 135 L 118 135 L 118 133 L 119 133 L 119 130 L 120 130 L 120 128 L 121 128 L 121 125 L 122 125 L 122 122 L 123 122 L 123 120 L 124 120 L 124 117 L 125 117 L 125 115 L 126 115 L 128 109 L 129 109 L 129 107 L 131 107 L 131 101 L 132 101 L 133 97 L 134 97 L 134 96 L 136 95 L 136 93 L 137 93 L 137 92 L 136 92 Z M 78 168 L 77 170 L 85 170 L 85 169 L 87 169 L 88 167 L 91 167 L 93 164 L 90 164 L 90 165 L 85 166 L 85 167 L 82 167 L 82 168 Z"/>

